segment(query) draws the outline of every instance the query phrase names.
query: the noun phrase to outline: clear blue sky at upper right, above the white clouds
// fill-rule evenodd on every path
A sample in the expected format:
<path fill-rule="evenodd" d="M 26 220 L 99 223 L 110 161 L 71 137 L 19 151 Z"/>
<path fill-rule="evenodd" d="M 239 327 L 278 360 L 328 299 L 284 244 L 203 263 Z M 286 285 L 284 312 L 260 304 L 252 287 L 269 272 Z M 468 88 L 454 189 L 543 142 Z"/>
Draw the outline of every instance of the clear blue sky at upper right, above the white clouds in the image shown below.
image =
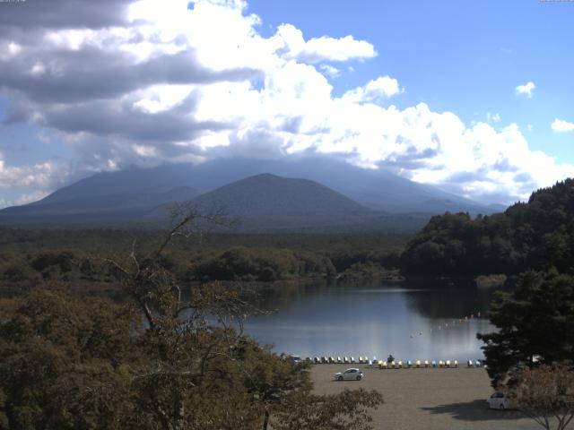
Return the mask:
<path fill-rule="evenodd" d="M 554 118 L 574 121 L 574 4 L 525 0 L 249 2 L 263 28 L 290 22 L 311 37 L 352 34 L 375 45 L 378 56 L 353 64 L 335 81 L 348 90 L 377 74 L 407 89 L 393 102 L 419 101 L 457 113 L 466 123 L 488 112 L 517 123 L 536 150 L 574 163 L 574 134 L 552 133 Z M 532 99 L 515 87 L 533 81 Z"/>

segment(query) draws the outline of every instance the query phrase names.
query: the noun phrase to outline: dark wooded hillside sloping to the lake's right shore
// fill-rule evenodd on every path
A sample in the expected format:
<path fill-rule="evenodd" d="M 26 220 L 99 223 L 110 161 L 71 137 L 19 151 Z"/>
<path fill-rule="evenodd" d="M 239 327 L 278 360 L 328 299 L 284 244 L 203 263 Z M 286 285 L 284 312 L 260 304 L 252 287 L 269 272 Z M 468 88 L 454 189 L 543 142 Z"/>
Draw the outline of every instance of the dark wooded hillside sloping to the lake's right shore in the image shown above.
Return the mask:
<path fill-rule="evenodd" d="M 572 272 L 574 180 L 533 193 L 504 213 L 433 217 L 401 256 L 417 274 L 513 274 L 526 270 Z"/>

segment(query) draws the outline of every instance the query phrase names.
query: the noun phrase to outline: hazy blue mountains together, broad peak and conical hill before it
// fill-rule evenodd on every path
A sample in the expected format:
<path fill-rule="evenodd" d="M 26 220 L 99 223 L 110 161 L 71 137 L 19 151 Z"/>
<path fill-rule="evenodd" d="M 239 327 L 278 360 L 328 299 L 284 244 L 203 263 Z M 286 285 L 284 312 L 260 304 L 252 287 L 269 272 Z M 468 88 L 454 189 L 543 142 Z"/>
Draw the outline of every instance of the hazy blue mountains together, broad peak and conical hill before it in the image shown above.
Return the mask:
<path fill-rule="evenodd" d="M 215 159 L 89 176 L 0 211 L 0 224 L 153 226 L 175 202 L 221 209 L 248 231 L 413 231 L 445 211 L 504 209 L 335 160 Z"/>

